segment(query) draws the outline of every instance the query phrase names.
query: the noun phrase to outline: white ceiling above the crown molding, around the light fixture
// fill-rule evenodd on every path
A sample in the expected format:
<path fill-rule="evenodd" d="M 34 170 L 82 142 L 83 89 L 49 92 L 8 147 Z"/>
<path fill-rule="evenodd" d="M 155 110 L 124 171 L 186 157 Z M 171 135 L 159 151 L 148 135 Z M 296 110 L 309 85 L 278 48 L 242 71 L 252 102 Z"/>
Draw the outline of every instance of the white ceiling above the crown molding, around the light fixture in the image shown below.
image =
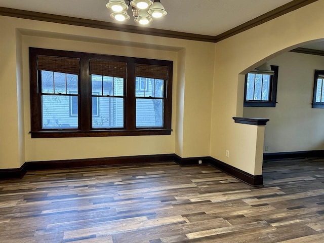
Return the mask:
<path fill-rule="evenodd" d="M 153 20 L 148 27 L 215 36 L 291 1 L 161 0 L 168 15 Z M 106 8 L 107 2 L 108 0 L 0 0 L 0 7 L 114 22 Z M 138 25 L 133 21 L 132 15 L 126 24 Z"/>

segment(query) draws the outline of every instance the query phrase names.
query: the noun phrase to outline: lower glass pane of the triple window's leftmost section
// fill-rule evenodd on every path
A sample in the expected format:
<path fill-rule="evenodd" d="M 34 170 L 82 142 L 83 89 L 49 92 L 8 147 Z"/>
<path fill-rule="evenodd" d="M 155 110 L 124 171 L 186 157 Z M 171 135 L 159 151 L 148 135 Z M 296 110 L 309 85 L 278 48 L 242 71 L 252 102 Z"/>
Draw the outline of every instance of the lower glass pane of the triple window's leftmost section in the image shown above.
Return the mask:
<path fill-rule="evenodd" d="M 43 129 L 77 128 L 78 116 L 70 115 L 69 96 L 42 95 L 42 121 Z"/>

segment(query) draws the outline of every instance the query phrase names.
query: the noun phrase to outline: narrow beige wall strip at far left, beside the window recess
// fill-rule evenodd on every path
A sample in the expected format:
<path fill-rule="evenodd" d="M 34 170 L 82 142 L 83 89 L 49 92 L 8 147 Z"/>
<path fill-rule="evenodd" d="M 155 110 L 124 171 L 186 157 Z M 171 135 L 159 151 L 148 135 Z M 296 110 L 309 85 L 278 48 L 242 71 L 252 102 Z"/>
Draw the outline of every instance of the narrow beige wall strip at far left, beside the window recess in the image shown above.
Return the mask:
<path fill-rule="evenodd" d="M 0 168 L 20 167 L 16 31 L 0 20 Z M 18 54 L 19 56 L 19 54 Z"/>

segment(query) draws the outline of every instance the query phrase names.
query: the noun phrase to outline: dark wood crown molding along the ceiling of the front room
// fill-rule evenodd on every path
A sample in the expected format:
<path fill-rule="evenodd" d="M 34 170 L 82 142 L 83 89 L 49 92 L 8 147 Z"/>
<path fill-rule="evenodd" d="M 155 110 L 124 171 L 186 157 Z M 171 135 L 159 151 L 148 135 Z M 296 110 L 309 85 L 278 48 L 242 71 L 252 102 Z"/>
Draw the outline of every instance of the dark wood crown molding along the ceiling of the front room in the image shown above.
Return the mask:
<path fill-rule="evenodd" d="M 0 7 L 0 15 L 16 17 L 16 18 L 23 18 L 23 19 L 32 19 L 32 20 L 38 20 L 38 21 L 60 23 L 60 24 L 84 26 L 84 27 L 90 27 L 90 28 L 107 29 L 107 30 L 129 32 L 129 33 L 170 37 L 170 38 L 188 39 L 188 40 L 200 41 L 200 42 L 217 43 L 217 42 L 220 42 L 223 39 L 226 39 L 230 36 L 233 36 L 240 32 L 251 29 L 257 25 L 263 24 L 269 20 L 277 18 L 281 15 L 284 15 L 286 13 L 289 13 L 291 11 L 294 11 L 296 9 L 299 9 L 301 7 L 304 7 L 308 4 L 311 4 L 316 1 L 318 1 L 318 0 L 293 0 L 292 2 L 290 2 L 288 4 L 280 6 L 268 13 L 265 13 L 255 19 L 252 19 L 244 24 L 241 24 L 235 28 L 232 28 L 232 29 L 230 29 L 224 33 L 221 33 L 219 35 L 216 35 L 216 36 L 203 35 L 203 34 L 192 34 L 192 33 L 163 30 L 163 29 L 154 29 L 154 28 L 142 28 L 142 27 L 134 26 L 134 25 L 117 24 L 117 23 L 111 23 L 111 22 L 105 22 L 105 21 L 75 18 L 75 17 L 68 17 L 68 16 L 62 16 L 62 15 L 55 15 L 55 14 L 46 14 L 46 13 L 39 13 L 39 12 L 18 10 L 18 9 L 11 9 L 11 8 L 4 8 L 4 7 Z"/>

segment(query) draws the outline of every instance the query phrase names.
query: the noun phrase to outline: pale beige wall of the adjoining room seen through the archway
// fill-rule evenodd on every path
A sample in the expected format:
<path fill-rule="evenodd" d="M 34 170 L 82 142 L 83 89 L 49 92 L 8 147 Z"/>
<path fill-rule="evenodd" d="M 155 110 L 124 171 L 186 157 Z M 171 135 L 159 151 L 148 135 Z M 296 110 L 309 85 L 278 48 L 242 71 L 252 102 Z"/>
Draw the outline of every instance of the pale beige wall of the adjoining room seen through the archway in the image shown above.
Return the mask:
<path fill-rule="evenodd" d="M 269 63 L 279 66 L 276 107 L 244 107 L 245 117 L 270 118 L 264 152 L 324 149 L 324 110 L 311 108 L 314 70 L 324 70 L 324 57 L 286 52 Z"/>

